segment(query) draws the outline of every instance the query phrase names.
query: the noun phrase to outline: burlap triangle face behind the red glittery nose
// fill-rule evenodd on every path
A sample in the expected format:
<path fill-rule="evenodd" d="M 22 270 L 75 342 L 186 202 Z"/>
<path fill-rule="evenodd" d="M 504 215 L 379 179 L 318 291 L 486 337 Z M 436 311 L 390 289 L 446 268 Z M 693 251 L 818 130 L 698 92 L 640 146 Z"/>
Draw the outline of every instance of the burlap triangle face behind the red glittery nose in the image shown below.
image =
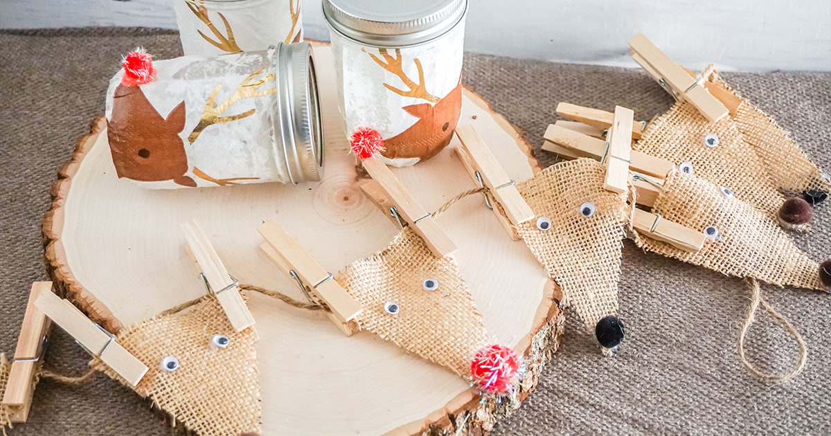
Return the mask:
<path fill-rule="evenodd" d="M 425 289 L 425 280 L 437 288 Z M 435 257 L 409 227 L 383 251 L 352 262 L 336 277 L 364 308 L 357 318 L 371 331 L 420 357 L 470 375 L 470 362 L 488 344 L 482 316 L 453 257 Z M 399 311 L 386 311 L 387 303 Z"/>

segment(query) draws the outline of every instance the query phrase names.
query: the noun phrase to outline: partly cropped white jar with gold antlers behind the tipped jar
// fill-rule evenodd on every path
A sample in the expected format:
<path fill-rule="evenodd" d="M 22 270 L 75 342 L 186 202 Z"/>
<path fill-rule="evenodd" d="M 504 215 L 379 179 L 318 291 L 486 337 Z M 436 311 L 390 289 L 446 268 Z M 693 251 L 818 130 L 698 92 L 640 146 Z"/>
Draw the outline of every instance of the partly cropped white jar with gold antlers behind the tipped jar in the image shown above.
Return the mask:
<path fill-rule="evenodd" d="M 173 0 L 185 56 L 301 42 L 301 0 Z"/>

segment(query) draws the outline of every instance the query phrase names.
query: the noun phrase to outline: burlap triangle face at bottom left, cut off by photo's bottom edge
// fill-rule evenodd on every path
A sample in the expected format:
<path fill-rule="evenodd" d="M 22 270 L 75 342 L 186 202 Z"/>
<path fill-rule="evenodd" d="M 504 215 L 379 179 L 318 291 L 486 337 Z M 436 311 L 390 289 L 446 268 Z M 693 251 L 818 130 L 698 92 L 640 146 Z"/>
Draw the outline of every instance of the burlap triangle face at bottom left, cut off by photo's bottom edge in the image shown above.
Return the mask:
<path fill-rule="evenodd" d="M 227 347 L 212 347 L 214 335 L 226 336 Z M 118 343 L 150 368 L 133 388 L 136 393 L 152 399 L 195 434 L 222 436 L 259 432 L 257 339 L 252 328 L 235 332 L 213 297 L 184 311 L 141 321 L 117 335 Z M 167 356 L 179 360 L 177 370 L 161 368 Z M 100 361 L 93 365 L 120 380 Z"/>

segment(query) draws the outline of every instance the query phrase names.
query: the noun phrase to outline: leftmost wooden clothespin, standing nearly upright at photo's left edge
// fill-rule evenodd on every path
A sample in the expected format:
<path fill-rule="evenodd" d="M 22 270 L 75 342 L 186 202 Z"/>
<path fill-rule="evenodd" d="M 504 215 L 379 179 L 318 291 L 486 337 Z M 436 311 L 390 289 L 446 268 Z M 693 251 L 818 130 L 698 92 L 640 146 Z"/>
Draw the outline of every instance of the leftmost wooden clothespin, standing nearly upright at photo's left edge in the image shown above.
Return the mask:
<path fill-rule="evenodd" d="M 35 306 L 35 300 L 44 292 L 52 293 L 52 282 L 34 282 L 23 315 L 17 348 L 14 350 L 12 368 L 8 373 L 6 391 L 2 403 L 8 410 L 12 423 L 25 423 L 35 393 L 37 366 L 42 363 L 46 341 L 52 322 Z"/>

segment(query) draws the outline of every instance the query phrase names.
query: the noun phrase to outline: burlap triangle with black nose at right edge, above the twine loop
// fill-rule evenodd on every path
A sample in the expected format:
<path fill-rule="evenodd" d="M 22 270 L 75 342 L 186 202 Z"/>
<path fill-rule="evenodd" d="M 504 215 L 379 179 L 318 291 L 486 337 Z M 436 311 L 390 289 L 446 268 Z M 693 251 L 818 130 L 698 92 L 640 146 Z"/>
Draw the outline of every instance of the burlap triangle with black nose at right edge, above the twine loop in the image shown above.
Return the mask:
<path fill-rule="evenodd" d="M 779 286 L 824 290 L 819 264 L 765 213 L 715 184 L 673 171 L 656 199 L 653 213 L 702 232 L 715 226 L 720 235 L 699 252 L 684 252 L 665 242 L 638 238 L 641 247 L 735 277 L 753 277 Z"/>

